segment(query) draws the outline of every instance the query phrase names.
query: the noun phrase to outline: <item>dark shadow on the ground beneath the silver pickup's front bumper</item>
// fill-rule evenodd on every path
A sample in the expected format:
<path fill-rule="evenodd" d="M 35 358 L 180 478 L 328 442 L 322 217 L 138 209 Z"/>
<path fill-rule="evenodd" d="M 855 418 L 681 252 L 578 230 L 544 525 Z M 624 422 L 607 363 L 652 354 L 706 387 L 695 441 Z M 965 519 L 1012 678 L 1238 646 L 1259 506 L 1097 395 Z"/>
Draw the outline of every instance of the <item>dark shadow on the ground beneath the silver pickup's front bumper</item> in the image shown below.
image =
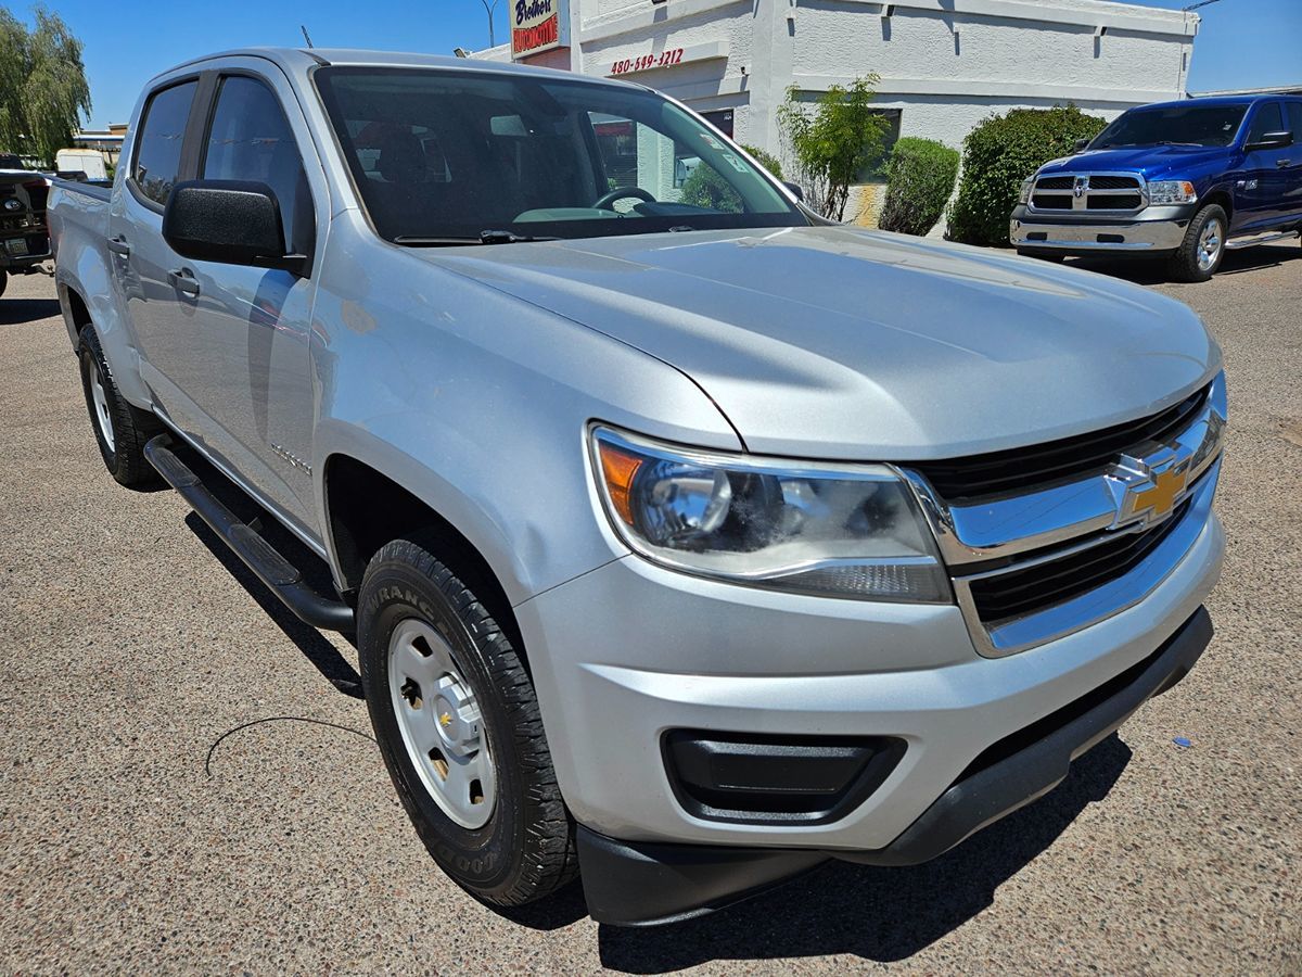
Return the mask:
<path fill-rule="evenodd" d="M 602 926 L 602 963 L 625 973 L 669 973 L 713 960 L 829 954 L 905 960 L 991 905 L 1000 885 L 1108 795 L 1129 761 L 1130 748 L 1113 733 L 1073 763 L 1057 789 L 926 865 L 829 862 L 699 920 L 655 929 Z"/>

